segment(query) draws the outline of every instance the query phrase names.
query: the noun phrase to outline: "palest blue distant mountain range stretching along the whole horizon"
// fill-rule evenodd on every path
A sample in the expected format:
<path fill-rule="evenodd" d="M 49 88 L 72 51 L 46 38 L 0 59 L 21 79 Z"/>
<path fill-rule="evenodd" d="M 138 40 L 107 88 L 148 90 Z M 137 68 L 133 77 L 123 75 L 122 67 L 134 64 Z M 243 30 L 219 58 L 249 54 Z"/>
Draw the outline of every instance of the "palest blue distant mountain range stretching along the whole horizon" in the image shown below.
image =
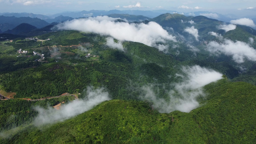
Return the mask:
<path fill-rule="evenodd" d="M 179 14 L 183 14 L 185 16 L 199 16 L 199 15 L 203 15 L 203 16 L 207 16 L 209 18 L 214 18 L 217 19 L 219 21 L 223 21 L 223 22 L 230 22 L 233 19 L 239 19 L 239 18 L 250 18 L 253 19 L 254 22 L 256 22 L 256 16 L 252 17 L 252 16 L 244 16 L 244 17 L 238 17 L 234 14 L 219 14 L 216 12 L 207 12 L 207 11 L 198 11 L 198 12 L 177 12 L 177 11 L 170 11 L 170 10 L 154 10 L 154 11 L 140 11 L 140 10 L 124 10 L 124 11 L 120 11 L 120 10 L 110 10 L 110 11 L 103 11 L 103 10 L 91 10 L 91 11 L 80 11 L 80 12 L 62 12 L 62 13 L 57 13 L 57 14 L 53 14 L 53 15 L 42 15 L 42 14 L 34 14 L 34 13 L 26 13 L 26 12 L 22 12 L 22 13 L 9 13 L 9 12 L 5 12 L 5 13 L 0 13 L 0 15 L 2 16 L 15 16 L 15 17 L 31 17 L 31 18 L 39 18 L 42 20 L 46 20 L 48 23 L 52 23 L 52 22 L 57 22 L 54 21 L 55 18 L 59 17 L 59 16 L 64 16 L 64 17 L 71 17 L 71 18 L 80 18 L 80 17 L 91 17 L 91 16 L 99 16 L 99 15 L 110 15 L 110 14 L 129 14 L 129 15 L 143 15 L 149 18 L 154 18 L 157 17 L 160 14 L 164 14 L 164 13 L 179 13 Z M 69 19 L 69 18 L 68 18 Z M 57 20 L 60 20 L 60 18 L 58 18 Z M 63 17 L 62 17 L 63 20 Z"/>

